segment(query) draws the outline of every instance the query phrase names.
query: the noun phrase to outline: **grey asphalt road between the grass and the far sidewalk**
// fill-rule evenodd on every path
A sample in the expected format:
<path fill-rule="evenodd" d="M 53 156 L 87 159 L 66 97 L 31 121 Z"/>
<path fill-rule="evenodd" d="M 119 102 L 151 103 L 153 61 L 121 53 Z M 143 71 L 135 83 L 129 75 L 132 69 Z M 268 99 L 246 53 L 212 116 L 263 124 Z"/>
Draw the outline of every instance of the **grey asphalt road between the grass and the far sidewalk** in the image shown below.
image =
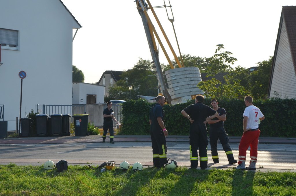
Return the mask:
<path fill-rule="evenodd" d="M 234 157 L 238 157 L 238 144 L 231 143 Z M 259 144 L 257 168 L 284 169 L 296 171 L 296 145 Z M 228 165 L 221 144 L 218 145 L 219 164 L 213 164 L 208 146 L 208 166 L 235 167 Z M 178 162 L 179 166 L 190 166 L 189 146 L 186 142 L 168 142 L 168 158 Z M 100 165 L 113 160 L 120 164 L 123 160 L 130 164 L 136 161 L 152 166 L 152 148 L 150 142 L 76 143 L 76 144 L 28 144 L 0 146 L 0 164 L 42 165 L 46 160 L 55 163 L 65 159 L 70 164 Z M 247 162 L 250 160 L 247 152 Z M 248 164 L 247 164 L 248 165 Z"/>

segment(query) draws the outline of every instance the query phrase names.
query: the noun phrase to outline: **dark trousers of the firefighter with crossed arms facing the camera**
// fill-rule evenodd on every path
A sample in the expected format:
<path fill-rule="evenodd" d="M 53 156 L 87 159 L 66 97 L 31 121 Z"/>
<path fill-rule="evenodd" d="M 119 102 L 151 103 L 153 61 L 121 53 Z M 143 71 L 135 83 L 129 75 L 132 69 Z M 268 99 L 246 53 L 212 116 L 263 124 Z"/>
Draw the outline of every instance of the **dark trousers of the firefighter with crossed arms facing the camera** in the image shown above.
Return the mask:
<path fill-rule="evenodd" d="M 234 160 L 233 153 L 229 145 L 229 137 L 226 134 L 224 127 L 210 127 L 210 145 L 214 163 L 219 161 L 217 151 L 218 138 L 222 144 L 223 150 L 226 153 L 228 161 Z"/>

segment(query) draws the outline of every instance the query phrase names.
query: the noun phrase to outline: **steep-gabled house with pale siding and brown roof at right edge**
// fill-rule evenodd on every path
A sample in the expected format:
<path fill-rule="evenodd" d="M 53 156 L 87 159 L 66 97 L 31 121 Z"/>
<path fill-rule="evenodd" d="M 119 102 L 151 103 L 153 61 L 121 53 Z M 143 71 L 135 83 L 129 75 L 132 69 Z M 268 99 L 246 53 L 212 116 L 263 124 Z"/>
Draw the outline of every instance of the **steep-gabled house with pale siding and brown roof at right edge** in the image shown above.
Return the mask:
<path fill-rule="evenodd" d="M 296 98 L 296 6 L 283 6 L 268 97 Z"/>

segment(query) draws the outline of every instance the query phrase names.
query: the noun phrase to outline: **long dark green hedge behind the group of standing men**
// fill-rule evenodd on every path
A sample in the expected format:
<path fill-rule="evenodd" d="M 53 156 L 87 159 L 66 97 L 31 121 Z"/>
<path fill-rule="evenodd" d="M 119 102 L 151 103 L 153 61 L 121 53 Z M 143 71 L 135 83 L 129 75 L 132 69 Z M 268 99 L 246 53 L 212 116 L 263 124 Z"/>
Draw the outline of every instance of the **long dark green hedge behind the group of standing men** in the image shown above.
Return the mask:
<path fill-rule="evenodd" d="M 218 106 L 223 107 L 227 113 L 224 128 L 228 135 L 242 136 L 242 114 L 246 107 L 244 100 L 218 99 L 218 102 Z M 165 127 L 170 135 L 189 135 L 189 121 L 181 115 L 181 110 L 190 104 L 194 104 L 194 100 L 184 104 L 166 104 L 163 107 L 165 110 Z M 204 104 L 211 107 L 210 99 L 205 99 Z M 149 134 L 149 111 L 153 105 L 143 99 L 123 103 L 122 114 L 124 118 L 120 134 Z M 265 120 L 261 121 L 259 125 L 261 136 L 295 137 L 296 99 L 254 100 L 253 105 L 257 106 L 265 116 Z"/>

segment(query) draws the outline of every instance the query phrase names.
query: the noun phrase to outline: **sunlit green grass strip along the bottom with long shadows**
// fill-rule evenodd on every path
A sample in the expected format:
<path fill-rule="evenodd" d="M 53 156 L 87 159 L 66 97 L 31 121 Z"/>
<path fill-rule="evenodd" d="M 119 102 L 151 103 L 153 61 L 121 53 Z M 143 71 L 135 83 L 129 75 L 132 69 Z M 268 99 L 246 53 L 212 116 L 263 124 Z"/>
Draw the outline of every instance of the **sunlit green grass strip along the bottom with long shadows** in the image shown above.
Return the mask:
<path fill-rule="evenodd" d="M 296 173 L 0 165 L 0 195 L 296 195 Z"/>

